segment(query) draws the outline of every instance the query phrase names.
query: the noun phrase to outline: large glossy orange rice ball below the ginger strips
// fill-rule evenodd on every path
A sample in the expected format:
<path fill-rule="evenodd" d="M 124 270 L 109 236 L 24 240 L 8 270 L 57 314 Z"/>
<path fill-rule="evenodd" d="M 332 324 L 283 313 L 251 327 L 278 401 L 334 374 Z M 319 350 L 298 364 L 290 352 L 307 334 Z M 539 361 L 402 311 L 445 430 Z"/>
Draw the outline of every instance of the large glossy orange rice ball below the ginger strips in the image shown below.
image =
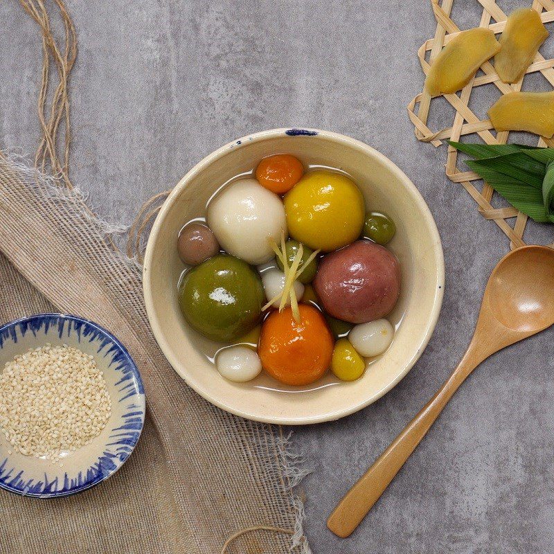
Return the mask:
<path fill-rule="evenodd" d="M 297 323 L 290 307 L 271 312 L 262 325 L 258 355 L 262 367 L 281 383 L 307 385 L 328 370 L 333 337 L 321 312 L 299 304 Z"/>

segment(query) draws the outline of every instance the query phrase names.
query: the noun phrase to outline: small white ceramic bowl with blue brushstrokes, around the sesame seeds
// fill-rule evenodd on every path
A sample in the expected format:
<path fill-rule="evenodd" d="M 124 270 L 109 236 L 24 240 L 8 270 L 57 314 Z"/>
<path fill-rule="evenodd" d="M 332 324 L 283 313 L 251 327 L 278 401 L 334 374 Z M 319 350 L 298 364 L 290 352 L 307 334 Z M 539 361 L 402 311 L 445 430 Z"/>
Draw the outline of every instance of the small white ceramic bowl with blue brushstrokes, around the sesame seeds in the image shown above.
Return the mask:
<path fill-rule="evenodd" d="M 62 454 L 63 467 L 14 451 L 0 431 L 0 488 L 27 497 L 64 497 L 105 481 L 129 458 L 145 415 L 141 375 L 125 347 L 96 323 L 66 314 L 40 314 L 0 328 L 0 373 L 15 356 L 46 343 L 93 355 L 104 372 L 112 413 L 100 436 Z"/>

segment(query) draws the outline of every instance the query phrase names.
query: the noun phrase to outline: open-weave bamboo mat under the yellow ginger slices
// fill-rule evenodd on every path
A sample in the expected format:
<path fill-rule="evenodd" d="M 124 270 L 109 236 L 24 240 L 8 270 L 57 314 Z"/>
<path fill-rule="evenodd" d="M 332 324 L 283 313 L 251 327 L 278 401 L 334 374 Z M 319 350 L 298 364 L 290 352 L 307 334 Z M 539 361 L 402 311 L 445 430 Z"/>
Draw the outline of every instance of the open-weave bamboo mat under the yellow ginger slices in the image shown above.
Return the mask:
<path fill-rule="evenodd" d="M 466 1 L 466 0 L 460 0 Z M 488 27 L 494 30 L 494 33 L 501 33 L 506 26 L 506 13 L 497 5 L 496 0 L 475 0 L 483 7 L 481 20 L 475 22 L 475 26 Z M 435 36 L 427 40 L 418 50 L 418 57 L 425 75 L 429 72 L 431 61 L 441 51 L 443 46 L 452 40 L 461 29 L 450 17 L 454 0 L 431 0 L 431 6 L 437 20 Z M 534 0 L 533 9 L 539 12 L 543 23 L 554 21 L 554 1 L 553 0 Z M 552 39 L 552 37 L 551 37 Z M 430 53 L 430 55 L 427 55 Z M 427 55 L 427 56 L 426 56 Z M 429 61 L 426 60 L 426 57 Z M 481 73 L 482 72 L 482 73 Z M 434 103 L 431 101 L 429 93 L 423 91 L 418 94 L 408 105 L 408 114 L 411 122 L 415 126 L 415 136 L 419 141 L 428 142 L 434 146 L 440 146 L 445 139 L 459 141 L 461 136 L 477 135 L 482 141 L 488 144 L 503 144 L 508 142 L 509 132 L 499 132 L 494 134 L 494 129 L 490 120 L 479 119 L 474 111 L 468 107 L 472 92 L 477 87 L 497 87 L 501 93 L 506 94 L 512 91 L 519 91 L 523 78 L 515 84 L 503 83 L 491 62 L 485 62 L 481 66 L 481 72 L 478 72 L 466 87 L 458 94 L 444 94 L 443 97 L 456 111 L 452 127 L 441 129 L 438 132 L 427 127 L 427 120 L 431 113 L 431 107 Z M 545 60 L 540 53 L 537 53 L 533 64 L 527 70 L 529 73 L 540 72 L 544 78 L 554 87 L 554 59 Z M 492 129 L 492 131 L 491 131 Z M 471 139 L 478 141 L 479 139 Z M 554 147 L 554 139 L 545 139 L 541 137 L 538 141 L 539 146 Z M 479 206 L 479 213 L 487 220 L 492 220 L 510 239 L 512 249 L 524 246 L 524 231 L 528 217 L 517 211 L 515 208 L 494 208 L 492 200 L 494 190 L 488 184 L 477 188 L 477 182 L 481 178 L 472 171 L 461 171 L 457 167 L 458 151 L 452 146 L 448 146 L 446 175 L 453 183 L 460 183 L 467 190 Z M 554 247 L 554 244 L 552 245 Z"/>

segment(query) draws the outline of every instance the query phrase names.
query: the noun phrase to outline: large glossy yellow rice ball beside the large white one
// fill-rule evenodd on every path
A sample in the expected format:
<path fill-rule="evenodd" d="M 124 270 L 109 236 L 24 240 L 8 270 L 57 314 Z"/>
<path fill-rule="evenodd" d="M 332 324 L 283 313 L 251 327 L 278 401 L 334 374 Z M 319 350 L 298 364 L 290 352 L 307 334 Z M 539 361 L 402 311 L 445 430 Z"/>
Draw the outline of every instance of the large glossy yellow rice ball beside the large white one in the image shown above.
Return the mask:
<path fill-rule="evenodd" d="M 364 197 L 339 173 L 304 175 L 285 195 L 289 234 L 311 249 L 332 252 L 354 242 L 364 226 Z"/>

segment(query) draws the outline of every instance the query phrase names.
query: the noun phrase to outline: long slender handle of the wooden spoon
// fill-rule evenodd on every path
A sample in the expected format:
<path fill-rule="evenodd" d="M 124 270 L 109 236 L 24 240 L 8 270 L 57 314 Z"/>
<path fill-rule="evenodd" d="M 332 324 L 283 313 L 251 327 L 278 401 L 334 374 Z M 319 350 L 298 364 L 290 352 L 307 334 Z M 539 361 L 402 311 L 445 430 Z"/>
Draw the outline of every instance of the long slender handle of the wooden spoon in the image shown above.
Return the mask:
<path fill-rule="evenodd" d="M 406 425 L 404 431 L 395 438 L 366 474 L 346 493 L 337 508 L 334 508 L 327 520 L 327 526 L 335 535 L 348 537 L 357 528 L 360 521 L 366 517 L 415 447 L 425 437 L 452 395 L 458 390 L 467 375 L 470 375 L 472 370 L 483 361 L 484 357 L 479 355 L 476 350 L 478 349 L 474 349 L 470 345 L 462 361 L 438 393 Z"/>

